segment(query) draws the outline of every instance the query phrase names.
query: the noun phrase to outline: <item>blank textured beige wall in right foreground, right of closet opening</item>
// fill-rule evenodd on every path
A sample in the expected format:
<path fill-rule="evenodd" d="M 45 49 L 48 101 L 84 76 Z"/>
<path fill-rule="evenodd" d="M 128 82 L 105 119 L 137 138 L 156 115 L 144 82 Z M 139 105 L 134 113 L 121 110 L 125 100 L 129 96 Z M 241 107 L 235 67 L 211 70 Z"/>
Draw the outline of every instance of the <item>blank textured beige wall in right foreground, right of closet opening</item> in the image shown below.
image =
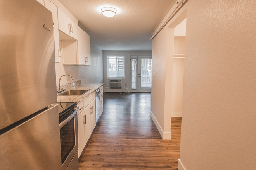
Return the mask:
<path fill-rule="evenodd" d="M 256 1 L 189 0 L 180 161 L 256 167 Z"/>

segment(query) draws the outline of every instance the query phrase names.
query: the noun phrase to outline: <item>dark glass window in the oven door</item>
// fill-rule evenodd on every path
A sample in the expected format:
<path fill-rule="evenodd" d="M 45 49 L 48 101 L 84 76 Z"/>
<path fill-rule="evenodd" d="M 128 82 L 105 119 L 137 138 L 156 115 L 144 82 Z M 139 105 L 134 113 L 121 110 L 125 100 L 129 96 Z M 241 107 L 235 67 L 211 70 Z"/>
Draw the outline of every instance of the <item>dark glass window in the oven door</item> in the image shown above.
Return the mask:
<path fill-rule="evenodd" d="M 60 129 L 61 134 L 61 164 L 63 164 L 71 151 L 75 141 L 75 123 L 74 117 Z"/>

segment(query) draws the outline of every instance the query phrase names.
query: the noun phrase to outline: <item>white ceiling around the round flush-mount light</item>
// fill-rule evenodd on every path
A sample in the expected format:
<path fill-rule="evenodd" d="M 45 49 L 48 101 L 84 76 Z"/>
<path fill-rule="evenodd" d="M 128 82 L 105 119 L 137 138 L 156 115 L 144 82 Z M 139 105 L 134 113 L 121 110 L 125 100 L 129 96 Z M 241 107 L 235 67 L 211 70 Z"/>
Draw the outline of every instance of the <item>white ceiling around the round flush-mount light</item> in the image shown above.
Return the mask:
<path fill-rule="evenodd" d="M 151 32 L 176 0 L 59 0 L 102 50 L 152 50 Z M 117 15 L 104 17 L 102 7 Z"/>

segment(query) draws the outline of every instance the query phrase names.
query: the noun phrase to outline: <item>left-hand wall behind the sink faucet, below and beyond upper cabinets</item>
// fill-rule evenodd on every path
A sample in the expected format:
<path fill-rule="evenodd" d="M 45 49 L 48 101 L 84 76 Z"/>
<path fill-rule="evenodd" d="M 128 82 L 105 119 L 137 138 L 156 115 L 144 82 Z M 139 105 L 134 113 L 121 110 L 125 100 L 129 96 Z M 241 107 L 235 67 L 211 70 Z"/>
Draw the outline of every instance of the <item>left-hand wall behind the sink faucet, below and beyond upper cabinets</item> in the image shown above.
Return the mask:
<path fill-rule="evenodd" d="M 91 65 L 90 66 L 76 66 L 76 65 L 62 65 L 55 63 L 56 67 L 56 81 L 58 77 L 69 74 L 74 75 L 74 80 L 81 80 L 81 83 L 103 83 L 103 58 L 102 50 L 91 42 Z M 66 77 L 61 78 L 61 84 L 72 82 L 71 78 L 67 80 Z M 57 83 L 59 83 L 57 81 Z"/>

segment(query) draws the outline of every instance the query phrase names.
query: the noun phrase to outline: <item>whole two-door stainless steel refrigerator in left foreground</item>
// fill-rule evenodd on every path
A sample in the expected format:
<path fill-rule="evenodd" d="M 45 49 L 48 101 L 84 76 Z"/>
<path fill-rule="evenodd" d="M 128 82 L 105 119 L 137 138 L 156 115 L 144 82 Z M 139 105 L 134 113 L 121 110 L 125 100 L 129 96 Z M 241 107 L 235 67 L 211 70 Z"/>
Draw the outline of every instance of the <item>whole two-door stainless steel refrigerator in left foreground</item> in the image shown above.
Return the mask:
<path fill-rule="evenodd" d="M 61 170 L 52 13 L 0 0 L 0 169 Z"/>

